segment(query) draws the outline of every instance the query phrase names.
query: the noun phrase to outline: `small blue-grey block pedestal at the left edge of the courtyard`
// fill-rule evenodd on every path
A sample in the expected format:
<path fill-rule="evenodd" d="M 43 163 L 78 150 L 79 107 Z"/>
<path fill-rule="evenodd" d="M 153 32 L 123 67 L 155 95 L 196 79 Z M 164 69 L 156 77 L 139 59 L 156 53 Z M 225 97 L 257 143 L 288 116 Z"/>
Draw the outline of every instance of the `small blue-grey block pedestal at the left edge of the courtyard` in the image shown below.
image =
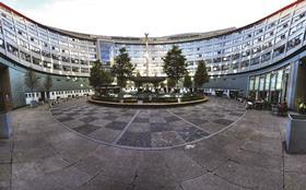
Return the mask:
<path fill-rule="evenodd" d="M 12 135 L 12 119 L 10 112 L 0 112 L 0 138 L 9 139 Z"/>

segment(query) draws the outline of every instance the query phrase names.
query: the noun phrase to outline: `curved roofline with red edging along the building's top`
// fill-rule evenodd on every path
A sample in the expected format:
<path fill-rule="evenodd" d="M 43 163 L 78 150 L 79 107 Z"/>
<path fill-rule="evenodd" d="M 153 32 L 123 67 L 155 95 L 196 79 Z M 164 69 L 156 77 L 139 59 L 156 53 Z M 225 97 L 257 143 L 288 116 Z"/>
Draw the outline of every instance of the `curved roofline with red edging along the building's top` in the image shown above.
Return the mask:
<path fill-rule="evenodd" d="M 176 36 L 180 36 L 180 35 L 183 36 L 184 34 L 162 36 L 162 37 L 150 37 L 150 39 L 153 40 L 152 41 L 153 44 L 164 44 L 164 43 L 176 43 L 176 41 L 180 41 L 180 43 L 183 43 L 183 41 L 195 41 L 195 40 L 200 40 L 200 39 L 210 39 L 210 38 L 214 38 L 214 37 L 220 37 L 220 36 L 223 36 L 223 35 L 229 35 L 232 33 L 239 32 L 239 31 L 248 28 L 248 27 L 250 27 L 252 25 L 256 25 L 256 24 L 258 24 L 258 23 L 260 23 L 260 22 L 262 22 L 262 21 L 264 21 L 264 20 L 267 20 L 269 17 L 272 17 L 272 16 L 283 12 L 284 10 L 287 10 L 287 9 L 294 7 L 294 5 L 296 5 L 296 4 L 298 4 L 298 3 L 303 2 L 303 1 L 305 1 L 305 0 L 296 0 L 296 1 L 285 5 L 283 8 L 281 8 L 280 10 L 278 10 L 278 11 L 275 11 L 275 12 L 273 12 L 273 13 L 271 13 L 271 14 L 269 14 L 269 15 L 267 15 L 267 16 L 258 20 L 258 21 L 256 21 L 256 22 L 252 22 L 250 24 L 247 24 L 247 25 L 238 27 L 238 28 L 231 27 L 231 28 L 219 29 L 219 31 L 213 31 L 213 32 L 189 33 L 189 34 L 198 34 L 199 35 L 199 38 L 196 37 L 193 39 L 192 38 L 189 38 L 189 39 L 188 38 L 181 38 L 181 40 L 156 41 L 156 43 L 154 43 L 154 40 L 153 40 L 153 39 L 156 40 L 156 39 L 162 39 L 162 38 L 176 37 Z M 129 43 L 129 44 L 133 44 L 133 43 L 138 44 L 137 41 L 132 41 L 131 40 L 133 38 L 134 39 L 137 39 L 137 38 L 143 39 L 144 38 L 144 37 L 131 37 L 131 36 L 104 36 L 104 35 L 93 35 L 93 34 L 78 33 L 78 32 L 73 32 L 73 31 L 66 31 L 66 29 L 56 28 L 56 27 L 52 27 L 52 26 L 47 26 L 47 25 L 40 24 L 40 23 L 38 23 L 38 22 L 36 22 L 36 21 L 25 16 L 24 14 L 15 11 L 14 9 L 10 8 L 9 5 L 7 5 L 7 4 L 4 4 L 2 2 L 0 2 L 0 7 L 9 10 L 9 11 L 13 12 L 14 14 L 16 14 L 16 15 L 19 15 L 21 17 L 24 17 L 27 21 L 33 22 L 33 23 L 35 23 L 35 24 L 37 24 L 37 25 L 39 25 L 39 26 L 42 26 L 44 28 L 48 28 L 48 29 L 50 29 L 52 32 L 57 32 L 57 33 L 60 33 L 62 35 L 68 35 L 70 37 L 76 37 L 76 38 L 87 39 L 87 40 L 95 40 L 95 39 L 116 40 L 115 38 L 121 38 L 121 40 L 123 40 L 122 43 Z M 208 37 L 201 36 L 203 34 L 215 33 L 215 32 L 216 33 L 220 32 L 221 34 L 215 34 L 215 35 L 212 35 L 212 36 L 209 35 Z"/>

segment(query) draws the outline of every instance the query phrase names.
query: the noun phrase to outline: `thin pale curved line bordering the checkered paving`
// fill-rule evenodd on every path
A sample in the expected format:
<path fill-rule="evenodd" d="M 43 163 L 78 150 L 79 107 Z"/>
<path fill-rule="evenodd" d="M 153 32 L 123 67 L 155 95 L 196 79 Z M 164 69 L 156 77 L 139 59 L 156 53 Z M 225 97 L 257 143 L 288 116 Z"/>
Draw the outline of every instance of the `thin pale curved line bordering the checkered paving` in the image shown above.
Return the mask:
<path fill-rule="evenodd" d="M 195 140 L 192 142 L 186 142 L 186 143 L 181 143 L 181 144 L 177 144 L 177 145 L 172 145 L 172 146 L 164 146 L 164 147 L 139 147 L 139 146 L 126 146 L 126 145 L 120 145 L 120 144 L 114 144 L 114 143 L 108 143 L 108 142 L 105 142 L 105 141 L 99 141 L 99 140 L 96 140 L 96 139 L 93 139 L 93 138 L 90 138 L 85 134 L 82 134 L 69 127 L 67 127 L 66 124 L 63 124 L 62 122 L 60 122 L 51 112 L 51 109 L 49 109 L 49 112 L 51 115 L 51 117 L 57 121 L 59 122 L 62 127 L 64 127 L 66 129 L 68 129 L 69 131 L 75 133 L 76 135 L 79 136 L 82 136 L 86 140 L 90 140 L 90 141 L 93 141 L 93 142 L 96 142 L 96 143 L 99 143 L 99 144 L 103 144 L 103 145 L 109 145 L 109 146 L 114 146 L 114 147 L 120 147 L 120 149 L 127 149 L 127 150 L 137 150 L 137 151 L 163 151 L 163 150 L 170 150 L 170 149 L 176 149 L 176 147 L 183 147 L 183 146 L 186 146 L 186 145 L 190 145 L 190 144 L 195 144 L 195 143 L 198 143 L 200 141 L 204 141 L 204 140 L 208 140 L 214 135 L 217 135 L 219 133 L 223 132 L 223 131 L 226 131 L 228 130 L 229 128 L 234 127 L 238 121 L 240 121 L 245 115 L 247 114 L 247 110 L 245 110 L 245 112 L 237 119 L 235 120 L 234 122 L 232 122 L 231 124 L 228 124 L 227 127 L 224 127 L 223 129 L 214 132 L 214 133 L 211 133 L 209 134 L 208 136 L 203 136 L 203 138 L 200 138 L 198 140 Z M 136 115 L 137 116 L 137 115 Z M 132 120 L 132 119 L 131 119 Z"/>

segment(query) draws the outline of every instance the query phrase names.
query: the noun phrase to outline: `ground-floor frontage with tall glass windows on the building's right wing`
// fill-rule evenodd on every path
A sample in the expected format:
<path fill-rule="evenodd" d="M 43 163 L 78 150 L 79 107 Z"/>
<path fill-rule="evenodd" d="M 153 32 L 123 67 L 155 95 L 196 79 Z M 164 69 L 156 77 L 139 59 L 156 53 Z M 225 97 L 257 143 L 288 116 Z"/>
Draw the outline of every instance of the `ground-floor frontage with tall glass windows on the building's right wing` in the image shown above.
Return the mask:
<path fill-rule="evenodd" d="M 302 51 L 254 71 L 211 76 L 204 88 L 235 90 L 240 96 L 254 100 L 286 103 L 289 108 L 297 109 L 301 102 L 306 102 L 306 52 Z"/>

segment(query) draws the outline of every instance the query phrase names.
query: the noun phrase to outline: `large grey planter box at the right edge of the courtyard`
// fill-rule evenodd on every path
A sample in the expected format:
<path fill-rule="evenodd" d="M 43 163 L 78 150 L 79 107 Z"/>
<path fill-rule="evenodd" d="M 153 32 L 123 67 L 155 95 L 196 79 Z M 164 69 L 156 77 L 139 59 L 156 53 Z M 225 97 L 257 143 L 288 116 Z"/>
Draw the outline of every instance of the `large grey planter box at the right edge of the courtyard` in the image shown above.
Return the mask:
<path fill-rule="evenodd" d="M 306 153 L 306 116 L 289 115 L 286 126 L 286 151 L 289 153 Z"/>

